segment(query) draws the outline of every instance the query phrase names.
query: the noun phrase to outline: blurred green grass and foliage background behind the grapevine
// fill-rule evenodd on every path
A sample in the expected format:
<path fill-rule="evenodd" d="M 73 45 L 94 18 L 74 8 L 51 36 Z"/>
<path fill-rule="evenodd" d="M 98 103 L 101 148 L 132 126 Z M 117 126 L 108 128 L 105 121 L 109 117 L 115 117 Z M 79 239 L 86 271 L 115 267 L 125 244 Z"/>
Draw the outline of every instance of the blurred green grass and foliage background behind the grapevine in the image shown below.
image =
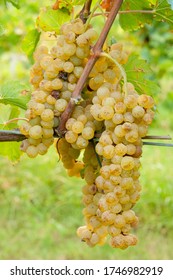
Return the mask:
<path fill-rule="evenodd" d="M 0 2 L 0 85 L 28 83 L 30 61 L 22 40 L 34 28 L 40 7 L 54 1 L 21 1 L 21 9 Z M 96 24 L 96 22 L 95 22 Z M 111 36 L 126 49 L 148 60 L 161 92 L 152 135 L 173 136 L 173 33 L 165 23 L 125 33 L 115 23 Z M 4 105 L 5 106 L 5 105 Z M 3 143 L 0 143 L 2 146 Z M 76 236 L 83 225 L 81 188 L 84 181 L 68 178 L 52 147 L 44 157 L 25 155 L 13 164 L 0 156 L 0 259 L 173 259 L 173 150 L 143 147 L 143 191 L 135 206 L 139 243 L 126 250 L 109 245 L 88 248 Z"/>

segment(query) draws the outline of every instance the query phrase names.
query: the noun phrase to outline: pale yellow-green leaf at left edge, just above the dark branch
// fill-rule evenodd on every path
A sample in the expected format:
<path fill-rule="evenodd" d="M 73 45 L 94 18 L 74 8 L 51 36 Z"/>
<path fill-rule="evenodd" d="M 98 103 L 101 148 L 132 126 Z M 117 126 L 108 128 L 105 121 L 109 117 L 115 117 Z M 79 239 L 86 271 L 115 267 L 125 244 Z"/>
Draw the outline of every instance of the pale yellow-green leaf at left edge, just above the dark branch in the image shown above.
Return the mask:
<path fill-rule="evenodd" d="M 12 122 L 6 125 L 11 119 L 18 118 L 20 110 L 17 107 L 0 104 L 0 129 L 13 129 L 17 127 L 16 122 Z"/>

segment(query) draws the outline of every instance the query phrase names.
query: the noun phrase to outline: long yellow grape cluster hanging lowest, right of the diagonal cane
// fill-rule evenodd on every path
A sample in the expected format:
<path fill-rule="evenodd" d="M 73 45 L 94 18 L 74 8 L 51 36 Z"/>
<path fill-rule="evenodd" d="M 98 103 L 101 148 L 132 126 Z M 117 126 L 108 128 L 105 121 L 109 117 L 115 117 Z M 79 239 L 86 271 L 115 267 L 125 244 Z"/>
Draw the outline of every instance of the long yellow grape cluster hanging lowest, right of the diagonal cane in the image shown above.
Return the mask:
<path fill-rule="evenodd" d="M 130 234 L 138 222 L 131 208 L 140 198 L 142 137 L 154 117 L 154 101 L 146 94 L 138 95 L 132 84 L 127 89 L 125 95 L 103 83 L 91 106 L 93 117 L 104 122 L 104 131 L 95 146 L 102 166 L 84 189 L 86 226 L 77 231 L 90 246 L 102 244 L 108 235 L 115 248 L 137 243 Z"/>

